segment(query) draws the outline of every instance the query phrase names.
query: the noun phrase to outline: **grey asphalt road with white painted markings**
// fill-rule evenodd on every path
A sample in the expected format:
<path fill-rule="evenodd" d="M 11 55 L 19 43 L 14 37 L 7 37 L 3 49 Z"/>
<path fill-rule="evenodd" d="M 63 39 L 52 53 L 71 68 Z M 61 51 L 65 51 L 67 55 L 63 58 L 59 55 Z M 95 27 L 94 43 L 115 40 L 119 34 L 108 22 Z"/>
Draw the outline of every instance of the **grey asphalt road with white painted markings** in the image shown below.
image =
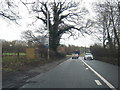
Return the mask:
<path fill-rule="evenodd" d="M 93 72 L 87 65 L 96 71 Z M 101 78 L 101 77 L 102 78 Z M 26 81 L 21 88 L 111 88 L 118 87 L 117 66 L 97 60 L 68 59 L 54 69 Z"/>

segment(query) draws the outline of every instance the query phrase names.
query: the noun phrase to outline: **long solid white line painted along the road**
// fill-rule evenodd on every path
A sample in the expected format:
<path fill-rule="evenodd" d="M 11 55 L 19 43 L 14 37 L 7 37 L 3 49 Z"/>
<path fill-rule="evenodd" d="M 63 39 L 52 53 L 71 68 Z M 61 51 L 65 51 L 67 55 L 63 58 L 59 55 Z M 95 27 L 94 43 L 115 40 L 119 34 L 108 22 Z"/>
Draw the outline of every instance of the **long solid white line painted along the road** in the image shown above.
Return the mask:
<path fill-rule="evenodd" d="M 82 59 L 81 59 L 82 60 Z M 93 71 L 109 88 L 112 90 L 117 90 L 112 84 L 110 84 L 103 76 L 101 76 L 98 72 L 96 72 L 92 67 L 90 67 L 86 62 L 82 60 L 82 62 L 91 70 Z"/>

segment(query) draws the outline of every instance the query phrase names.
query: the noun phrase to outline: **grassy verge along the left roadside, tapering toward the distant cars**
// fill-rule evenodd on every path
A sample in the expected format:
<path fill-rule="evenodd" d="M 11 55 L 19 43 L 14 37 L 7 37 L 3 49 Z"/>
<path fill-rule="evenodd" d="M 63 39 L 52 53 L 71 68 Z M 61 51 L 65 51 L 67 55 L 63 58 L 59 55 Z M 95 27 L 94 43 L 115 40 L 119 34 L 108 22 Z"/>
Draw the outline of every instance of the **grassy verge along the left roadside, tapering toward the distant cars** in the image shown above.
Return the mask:
<path fill-rule="evenodd" d="M 65 57 L 64 57 L 65 58 Z M 55 60 L 60 60 L 61 58 L 47 60 L 45 58 L 27 59 L 25 56 L 4 56 L 2 58 L 2 71 L 3 72 L 15 72 L 21 70 L 21 68 L 36 67 L 37 65 L 44 65 Z"/>

